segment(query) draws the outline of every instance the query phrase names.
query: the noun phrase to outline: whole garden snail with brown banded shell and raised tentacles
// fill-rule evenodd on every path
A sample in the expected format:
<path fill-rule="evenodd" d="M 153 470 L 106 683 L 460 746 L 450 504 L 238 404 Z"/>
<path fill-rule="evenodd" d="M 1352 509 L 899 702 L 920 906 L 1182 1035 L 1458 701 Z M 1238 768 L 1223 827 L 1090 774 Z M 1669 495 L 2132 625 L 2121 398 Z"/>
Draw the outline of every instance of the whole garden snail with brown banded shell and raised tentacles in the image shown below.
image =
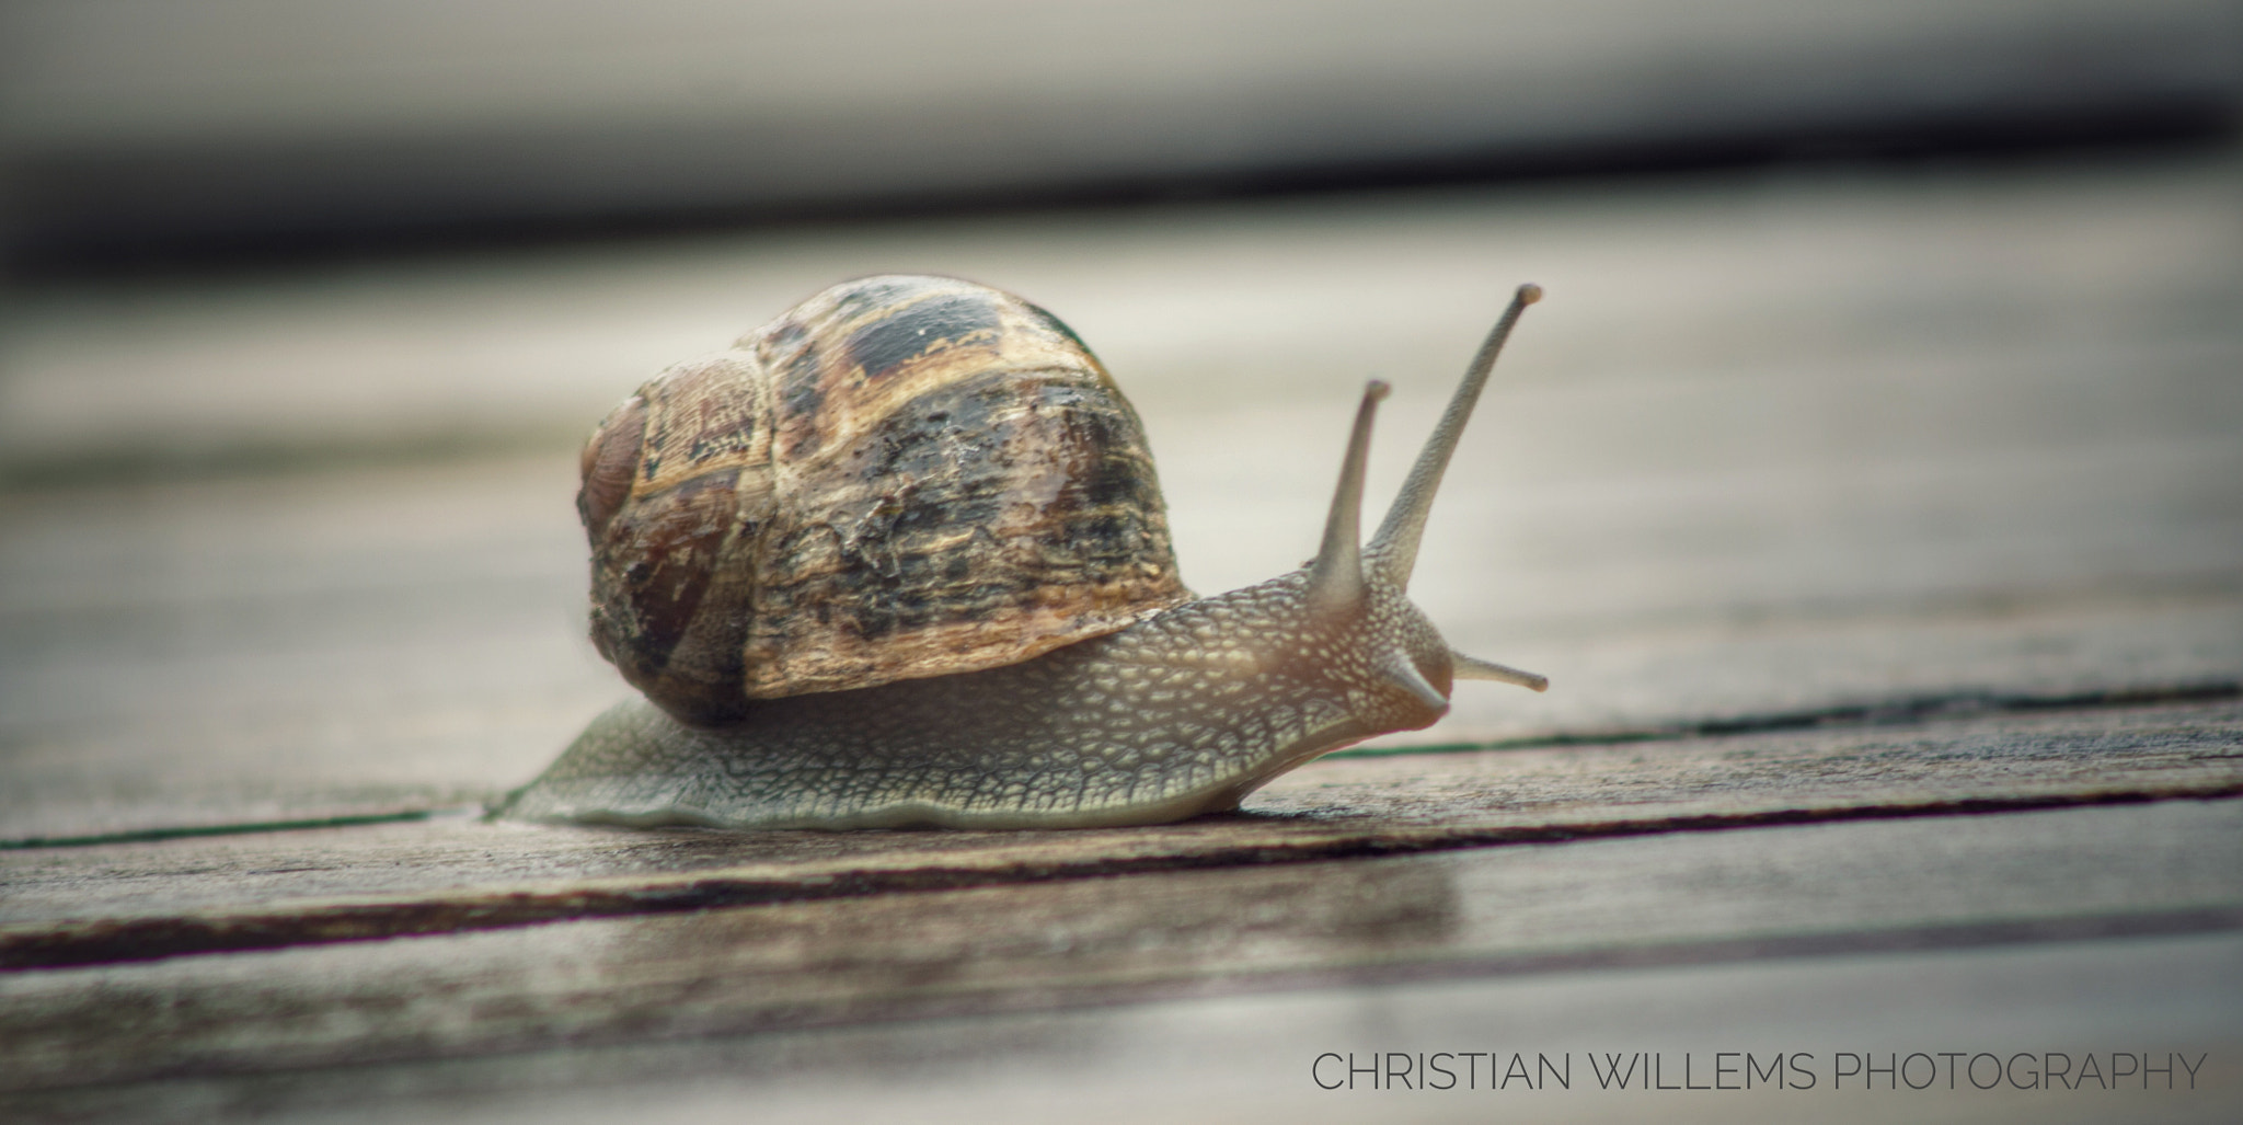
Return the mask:
<path fill-rule="evenodd" d="M 1409 597 L 1521 285 L 1359 541 L 1386 384 L 1317 557 L 1193 597 L 1142 424 L 1090 348 L 967 281 L 825 290 L 668 368 L 585 445 L 592 638 L 644 698 L 498 815 L 729 829 L 1063 829 L 1231 811 L 1319 754 L 1543 676 Z"/>

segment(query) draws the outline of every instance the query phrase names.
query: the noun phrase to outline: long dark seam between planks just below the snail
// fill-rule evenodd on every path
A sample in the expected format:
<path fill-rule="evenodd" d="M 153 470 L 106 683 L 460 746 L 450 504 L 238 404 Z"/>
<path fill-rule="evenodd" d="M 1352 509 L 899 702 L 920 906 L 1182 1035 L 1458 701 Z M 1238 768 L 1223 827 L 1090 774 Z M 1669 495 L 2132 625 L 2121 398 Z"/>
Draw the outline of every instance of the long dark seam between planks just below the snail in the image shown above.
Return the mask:
<path fill-rule="evenodd" d="M 1557 844 L 1676 831 L 1729 831 L 1785 824 L 1833 824 L 1855 820 L 1902 820 L 1940 815 L 2025 813 L 2099 804 L 2149 804 L 2164 799 L 2223 799 L 2243 795 L 2243 781 L 2106 793 L 2052 793 L 2023 797 L 1963 797 L 1850 808 L 1779 808 L 1763 813 L 1705 813 L 1680 817 L 1613 820 L 1563 826 L 1489 829 L 1366 829 L 1301 844 L 1265 842 L 1213 847 L 1193 853 L 1133 856 L 1104 860 L 1012 862 L 991 867 L 917 867 L 904 871 L 805 871 L 799 878 L 740 878 L 724 874 L 532 891 L 480 891 L 451 898 L 397 903 L 352 903 L 330 907 L 242 912 L 218 916 L 94 918 L 0 927 L 0 970 L 38 970 L 123 961 L 159 961 L 184 954 L 278 950 L 336 941 L 435 936 L 476 930 L 543 925 L 576 918 L 673 914 L 767 903 L 810 903 L 904 891 L 953 891 L 1104 878 L 1213 867 L 1252 867 L 1373 856 L 1413 856 L 1503 844 Z"/>

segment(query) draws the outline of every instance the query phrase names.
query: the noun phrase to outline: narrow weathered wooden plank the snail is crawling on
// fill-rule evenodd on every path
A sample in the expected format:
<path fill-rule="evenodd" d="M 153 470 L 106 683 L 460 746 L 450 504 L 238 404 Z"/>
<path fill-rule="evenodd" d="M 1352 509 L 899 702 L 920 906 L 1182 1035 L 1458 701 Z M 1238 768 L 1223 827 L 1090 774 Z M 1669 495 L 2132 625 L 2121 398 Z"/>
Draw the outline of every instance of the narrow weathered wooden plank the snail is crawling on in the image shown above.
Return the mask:
<path fill-rule="evenodd" d="M 0 963 L 1817 820 L 2243 793 L 2243 703 L 1312 763 L 1240 815 L 1068 833 L 431 822 L 0 851 Z"/>

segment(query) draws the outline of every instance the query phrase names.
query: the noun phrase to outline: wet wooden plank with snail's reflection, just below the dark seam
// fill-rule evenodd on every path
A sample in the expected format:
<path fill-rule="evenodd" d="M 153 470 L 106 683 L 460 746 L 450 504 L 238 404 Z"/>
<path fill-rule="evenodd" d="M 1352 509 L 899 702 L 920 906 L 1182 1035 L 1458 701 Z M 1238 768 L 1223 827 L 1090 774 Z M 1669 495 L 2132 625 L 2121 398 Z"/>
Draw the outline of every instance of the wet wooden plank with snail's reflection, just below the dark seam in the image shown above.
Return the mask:
<path fill-rule="evenodd" d="M 2243 927 L 2243 802 L 1842 822 L 772 903 L 0 977 L 0 1087 Z"/>

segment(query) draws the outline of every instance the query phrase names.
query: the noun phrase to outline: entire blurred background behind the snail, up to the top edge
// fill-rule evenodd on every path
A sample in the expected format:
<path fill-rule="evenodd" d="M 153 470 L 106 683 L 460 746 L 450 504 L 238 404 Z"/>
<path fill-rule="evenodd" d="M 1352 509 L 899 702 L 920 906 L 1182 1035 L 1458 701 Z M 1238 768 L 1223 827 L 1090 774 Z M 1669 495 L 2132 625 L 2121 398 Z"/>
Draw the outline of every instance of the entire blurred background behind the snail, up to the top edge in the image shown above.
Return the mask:
<path fill-rule="evenodd" d="M 1068 319 L 1184 577 L 1521 281 L 1415 743 L 2232 692 L 2243 7 L 0 7 L 0 838 L 473 802 L 624 687 L 574 449 L 832 281 Z M 1404 739 L 1409 741 L 1409 739 Z"/>

